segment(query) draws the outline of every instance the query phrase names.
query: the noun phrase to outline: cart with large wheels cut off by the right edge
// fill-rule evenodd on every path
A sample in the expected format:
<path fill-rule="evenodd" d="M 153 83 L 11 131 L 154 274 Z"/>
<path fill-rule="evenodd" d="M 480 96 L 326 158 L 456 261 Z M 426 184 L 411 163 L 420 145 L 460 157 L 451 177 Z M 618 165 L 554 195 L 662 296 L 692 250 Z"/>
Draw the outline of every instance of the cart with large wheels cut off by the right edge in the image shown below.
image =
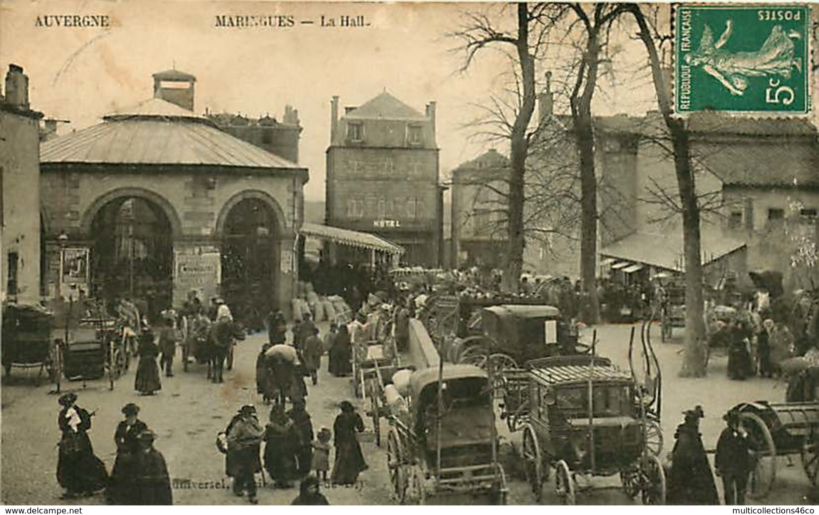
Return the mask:
<path fill-rule="evenodd" d="M 819 485 L 819 402 L 747 402 L 733 410 L 755 446 L 749 495 L 767 495 L 776 479 L 776 458 L 785 455 L 800 455 L 811 484 Z"/>

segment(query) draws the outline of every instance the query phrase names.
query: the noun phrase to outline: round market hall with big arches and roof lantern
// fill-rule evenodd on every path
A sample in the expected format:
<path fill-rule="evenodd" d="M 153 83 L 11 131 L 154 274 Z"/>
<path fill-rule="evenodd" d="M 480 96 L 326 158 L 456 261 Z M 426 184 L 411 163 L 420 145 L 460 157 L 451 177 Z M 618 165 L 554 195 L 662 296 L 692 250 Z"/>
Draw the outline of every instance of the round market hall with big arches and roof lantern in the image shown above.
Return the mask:
<path fill-rule="evenodd" d="M 154 98 L 43 143 L 57 297 L 129 296 L 156 316 L 196 289 L 244 316 L 288 311 L 308 172 L 194 114 L 195 80 L 155 74 Z"/>

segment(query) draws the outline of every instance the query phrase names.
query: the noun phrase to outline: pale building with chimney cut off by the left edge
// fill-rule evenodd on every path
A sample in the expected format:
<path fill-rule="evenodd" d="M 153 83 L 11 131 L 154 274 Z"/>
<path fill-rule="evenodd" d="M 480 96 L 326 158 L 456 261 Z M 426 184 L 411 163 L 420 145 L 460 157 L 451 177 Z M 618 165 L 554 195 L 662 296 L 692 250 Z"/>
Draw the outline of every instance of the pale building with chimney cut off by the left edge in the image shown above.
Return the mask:
<path fill-rule="evenodd" d="M 9 65 L 0 96 L 0 300 L 38 302 L 41 296 L 39 119 L 29 106 L 29 78 Z"/>

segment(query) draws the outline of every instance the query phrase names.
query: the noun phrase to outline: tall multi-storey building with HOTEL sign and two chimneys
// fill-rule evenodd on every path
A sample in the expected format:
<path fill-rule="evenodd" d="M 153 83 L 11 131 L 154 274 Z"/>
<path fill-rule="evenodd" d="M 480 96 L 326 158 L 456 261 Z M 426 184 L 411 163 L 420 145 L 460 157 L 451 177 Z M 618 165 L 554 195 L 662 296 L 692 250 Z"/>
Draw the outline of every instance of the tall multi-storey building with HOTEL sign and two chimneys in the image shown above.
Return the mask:
<path fill-rule="evenodd" d="M 442 258 L 435 102 L 421 114 L 387 92 L 339 118 L 331 106 L 326 223 L 376 234 L 404 247 L 402 261 L 436 266 Z M 331 258 L 364 256 L 331 250 Z"/>

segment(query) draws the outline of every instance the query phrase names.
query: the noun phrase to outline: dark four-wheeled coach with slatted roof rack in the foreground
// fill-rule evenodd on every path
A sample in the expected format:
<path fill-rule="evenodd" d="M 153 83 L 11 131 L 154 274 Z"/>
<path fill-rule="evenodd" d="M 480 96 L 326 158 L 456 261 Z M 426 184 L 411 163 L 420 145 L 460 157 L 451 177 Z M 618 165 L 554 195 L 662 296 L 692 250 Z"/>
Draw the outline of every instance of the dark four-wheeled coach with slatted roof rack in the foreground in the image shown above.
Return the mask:
<path fill-rule="evenodd" d="M 550 357 L 527 364 L 528 414 L 523 427 L 527 480 L 538 499 L 554 468 L 555 493 L 575 504 L 577 477 L 620 475 L 630 497 L 665 502 L 658 423 L 649 419 L 640 385 L 606 358 Z"/>

